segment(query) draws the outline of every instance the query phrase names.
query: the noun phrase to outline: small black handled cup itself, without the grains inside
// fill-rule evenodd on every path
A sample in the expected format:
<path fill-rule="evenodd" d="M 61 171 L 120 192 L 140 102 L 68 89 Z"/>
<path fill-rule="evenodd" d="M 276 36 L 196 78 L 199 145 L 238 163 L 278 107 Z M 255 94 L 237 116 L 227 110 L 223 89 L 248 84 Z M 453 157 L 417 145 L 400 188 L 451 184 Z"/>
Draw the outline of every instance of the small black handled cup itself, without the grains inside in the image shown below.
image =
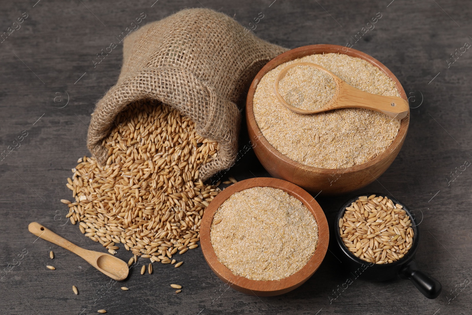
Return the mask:
<path fill-rule="evenodd" d="M 346 212 L 346 208 L 351 206 L 353 202 L 359 199 L 360 196 L 387 196 L 388 199 L 391 199 L 394 204 L 401 204 L 403 206 L 403 210 L 405 210 L 406 214 L 410 216 L 410 220 L 412 222 L 412 229 L 414 232 L 413 236 L 413 245 L 408 251 L 408 253 L 403 256 L 401 259 L 389 263 L 389 264 L 373 264 L 367 263 L 362 259 L 356 257 L 349 249 L 344 245 L 344 242 L 339 234 L 339 219 L 341 219 Z M 441 283 L 439 283 L 436 279 L 426 275 L 425 273 L 418 270 L 418 266 L 413 261 L 413 257 L 418 249 L 418 245 L 420 243 L 421 233 L 419 230 L 419 223 L 417 219 L 422 220 L 422 218 L 416 218 L 415 213 L 412 213 L 408 207 L 396 200 L 392 196 L 388 196 L 385 194 L 379 193 L 365 193 L 362 195 L 355 196 L 348 201 L 339 209 L 339 212 L 336 216 L 336 221 L 334 222 L 334 230 L 336 235 L 336 242 L 343 253 L 341 255 L 343 261 L 347 264 L 350 271 L 356 276 L 356 278 L 361 278 L 369 281 L 386 281 L 390 279 L 394 279 L 396 277 L 400 277 L 402 279 L 410 279 L 414 286 L 420 290 L 420 292 L 427 298 L 437 298 L 439 293 L 441 293 Z"/>

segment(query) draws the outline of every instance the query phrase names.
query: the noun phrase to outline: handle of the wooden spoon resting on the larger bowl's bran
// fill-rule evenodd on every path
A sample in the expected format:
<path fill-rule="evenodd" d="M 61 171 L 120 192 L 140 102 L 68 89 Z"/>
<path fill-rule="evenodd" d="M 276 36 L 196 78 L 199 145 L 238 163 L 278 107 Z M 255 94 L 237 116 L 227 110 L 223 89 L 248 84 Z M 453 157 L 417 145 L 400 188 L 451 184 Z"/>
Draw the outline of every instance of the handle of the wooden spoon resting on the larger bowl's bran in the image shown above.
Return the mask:
<path fill-rule="evenodd" d="M 344 81 L 338 81 L 338 85 L 339 94 L 336 99 L 336 108 L 366 108 L 380 111 L 396 119 L 404 119 L 408 114 L 408 102 L 401 97 L 367 93 Z"/>

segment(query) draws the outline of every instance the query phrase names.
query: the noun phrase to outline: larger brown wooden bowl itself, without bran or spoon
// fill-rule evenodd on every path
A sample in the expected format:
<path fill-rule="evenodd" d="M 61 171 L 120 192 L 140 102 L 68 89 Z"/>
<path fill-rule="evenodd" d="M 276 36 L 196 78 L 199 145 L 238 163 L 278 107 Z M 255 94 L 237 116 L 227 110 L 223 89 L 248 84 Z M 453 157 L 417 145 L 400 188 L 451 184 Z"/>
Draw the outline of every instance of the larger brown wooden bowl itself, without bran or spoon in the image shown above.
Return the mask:
<path fill-rule="evenodd" d="M 387 67 L 381 64 L 379 60 L 355 49 L 349 49 L 347 52 L 344 52 L 346 50 L 347 47 L 344 46 L 322 44 L 303 46 L 286 51 L 270 60 L 261 71 L 259 71 L 249 87 L 246 100 L 247 129 L 254 152 L 264 168 L 270 175 L 276 178 L 285 179 L 314 193 L 321 191 L 322 195 L 344 194 L 362 188 L 382 175 L 390 164 L 392 164 L 405 141 L 406 131 L 408 130 L 408 124 L 410 122 L 410 111 L 408 111 L 406 117 L 402 119 L 398 135 L 385 152 L 368 162 L 354 165 L 353 167 L 345 169 L 321 169 L 295 162 L 270 145 L 269 141 L 262 135 L 254 118 L 253 96 L 261 78 L 280 64 L 308 55 L 333 52 L 367 60 L 390 77 L 395 82 L 401 97 L 408 101 L 405 90 L 400 82 L 398 82 L 398 79 Z"/>

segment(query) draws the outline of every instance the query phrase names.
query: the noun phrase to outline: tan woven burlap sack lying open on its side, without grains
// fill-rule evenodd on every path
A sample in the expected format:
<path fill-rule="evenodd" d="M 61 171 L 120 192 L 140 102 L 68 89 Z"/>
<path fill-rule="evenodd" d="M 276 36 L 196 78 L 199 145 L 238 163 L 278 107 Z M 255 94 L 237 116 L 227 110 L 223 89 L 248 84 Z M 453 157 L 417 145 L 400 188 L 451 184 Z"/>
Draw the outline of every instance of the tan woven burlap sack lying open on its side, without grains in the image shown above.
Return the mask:
<path fill-rule="evenodd" d="M 244 88 L 270 59 L 286 49 L 263 41 L 233 18 L 210 9 L 185 9 L 129 34 L 116 85 L 96 104 L 87 147 L 104 164 L 115 117 L 135 101 L 158 100 L 190 117 L 196 131 L 219 142 L 202 180 L 236 159 Z"/>

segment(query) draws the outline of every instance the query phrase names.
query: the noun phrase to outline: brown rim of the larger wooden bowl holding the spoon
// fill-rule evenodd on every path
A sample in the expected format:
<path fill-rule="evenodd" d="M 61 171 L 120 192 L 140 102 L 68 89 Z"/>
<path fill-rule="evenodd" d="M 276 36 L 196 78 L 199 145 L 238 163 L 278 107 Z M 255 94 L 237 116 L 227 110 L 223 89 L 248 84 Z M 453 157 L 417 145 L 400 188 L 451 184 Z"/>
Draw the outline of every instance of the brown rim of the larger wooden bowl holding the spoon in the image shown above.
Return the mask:
<path fill-rule="evenodd" d="M 343 51 L 344 48 L 348 49 L 348 51 L 344 52 Z M 405 89 L 400 84 L 400 81 L 398 81 L 396 76 L 385 65 L 383 65 L 379 60 L 373 58 L 371 55 L 368 55 L 362 51 L 355 50 L 353 48 L 347 48 L 346 46 L 340 46 L 340 45 L 333 45 L 333 44 L 307 45 L 307 46 L 297 47 L 297 48 L 281 53 L 274 59 L 270 60 L 264 67 L 262 67 L 261 70 L 254 77 L 253 82 L 249 86 L 249 91 L 247 93 L 247 98 L 246 98 L 246 115 L 247 115 L 248 128 L 250 128 L 250 126 L 251 128 L 253 128 L 254 133 L 256 134 L 256 137 L 257 137 L 257 140 L 255 140 L 256 142 L 261 141 L 261 144 L 264 147 L 266 147 L 272 154 L 274 154 L 279 160 L 281 160 L 284 163 L 292 164 L 297 169 L 302 169 L 302 170 L 306 170 L 306 171 L 314 172 L 314 173 L 322 173 L 325 175 L 332 174 L 333 171 L 342 171 L 342 173 L 349 173 L 349 172 L 357 172 L 357 171 L 369 169 L 371 166 L 387 158 L 389 155 L 389 152 L 393 150 L 392 148 L 402 145 L 406 136 L 406 132 L 408 131 L 408 124 L 410 122 L 409 109 L 408 109 L 408 114 L 406 115 L 406 117 L 401 120 L 400 128 L 398 129 L 398 134 L 396 135 L 393 142 L 387 147 L 387 149 L 384 152 L 380 153 L 378 156 L 374 157 L 370 161 L 367 161 L 359 165 L 343 168 L 343 169 L 323 169 L 319 167 L 305 165 L 305 164 L 302 164 L 300 162 L 290 159 L 289 157 L 280 153 L 276 148 L 274 148 L 269 143 L 269 141 L 262 135 L 261 129 L 257 125 L 256 119 L 254 117 L 254 111 L 253 111 L 253 98 L 254 98 L 254 93 L 256 91 L 257 85 L 261 81 L 261 78 L 270 70 L 277 68 L 279 65 L 287 61 L 291 61 L 291 60 L 295 60 L 298 58 L 302 58 L 302 57 L 314 55 L 314 54 L 319 54 L 319 53 L 340 53 L 340 54 L 348 55 L 351 57 L 357 57 L 357 58 L 361 58 L 363 60 L 368 61 L 375 67 L 379 68 L 380 71 L 385 73 L 390 79 L 392 79 L 395 82 L 395 86 L 398 89 L 400 96 L 405 101 L 408 102 Z M 292 57 L 294 58 L 285 60 L 285 57 L 287 55 L 293 55 Z"/>

